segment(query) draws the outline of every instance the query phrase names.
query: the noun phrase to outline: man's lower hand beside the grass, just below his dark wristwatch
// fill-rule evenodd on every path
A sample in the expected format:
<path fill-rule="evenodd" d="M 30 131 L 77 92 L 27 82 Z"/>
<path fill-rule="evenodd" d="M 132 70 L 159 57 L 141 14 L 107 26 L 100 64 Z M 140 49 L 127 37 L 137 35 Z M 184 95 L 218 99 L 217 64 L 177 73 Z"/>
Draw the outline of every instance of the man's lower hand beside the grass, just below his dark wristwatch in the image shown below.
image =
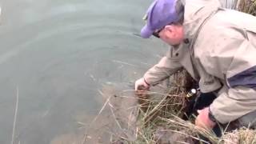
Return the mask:
<path fill-rule="evenodd" d="M 195 119 L 195 125 L 206 130 L 211 130 L 214 128 L 216 122 L 213 122 L 209 118 L 209 107 L 198 110 L 198 117 Z"/>

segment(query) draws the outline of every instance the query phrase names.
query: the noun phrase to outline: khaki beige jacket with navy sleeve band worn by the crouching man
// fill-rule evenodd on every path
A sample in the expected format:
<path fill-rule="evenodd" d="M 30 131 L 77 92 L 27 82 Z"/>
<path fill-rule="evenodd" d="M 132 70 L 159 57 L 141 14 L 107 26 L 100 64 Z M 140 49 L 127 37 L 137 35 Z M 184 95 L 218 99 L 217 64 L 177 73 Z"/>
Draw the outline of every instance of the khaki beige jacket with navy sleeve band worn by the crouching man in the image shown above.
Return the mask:
<path fill-rule="evenodd" d="M 210 105 L 218 122 L 256 110 L 256 18 L 217 0 L 187 0 L 183 26 L 186 41 L 170 47 L 144 74 L 146 82 L 155 85 L 184 67 L 203 93 L 221 88 Z"/>

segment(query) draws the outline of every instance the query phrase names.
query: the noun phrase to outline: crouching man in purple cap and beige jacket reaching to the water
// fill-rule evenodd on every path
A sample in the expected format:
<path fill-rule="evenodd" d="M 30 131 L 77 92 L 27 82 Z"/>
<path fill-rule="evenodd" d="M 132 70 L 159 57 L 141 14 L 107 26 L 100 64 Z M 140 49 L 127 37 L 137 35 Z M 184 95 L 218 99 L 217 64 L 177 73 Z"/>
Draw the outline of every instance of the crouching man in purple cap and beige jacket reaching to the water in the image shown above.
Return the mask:
<path fill-rule="evenodd" d="M 226 10 L 218 0 L 156 0 L 146 13 L 142 38 L 154 35 L 170 45 L 157 65 L 135 82 L 150 88 L 184 67 L 202 93 L 218 98 L 198 110 L 195 124 L 212 129 L 238 120 L 256 121 L 256 18 Z"/>

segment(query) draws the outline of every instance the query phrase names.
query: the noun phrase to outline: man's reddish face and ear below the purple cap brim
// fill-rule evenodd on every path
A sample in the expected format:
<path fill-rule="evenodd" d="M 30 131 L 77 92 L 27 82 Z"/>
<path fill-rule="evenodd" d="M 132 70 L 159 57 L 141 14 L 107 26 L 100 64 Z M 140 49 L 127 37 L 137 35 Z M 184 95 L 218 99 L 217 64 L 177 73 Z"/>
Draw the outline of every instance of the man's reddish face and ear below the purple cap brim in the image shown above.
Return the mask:
<path fill-rule="evenodd" d="M 179 45 L 184 39 L 183 26 L 178 23 L 167 25 L 157 32 L 162 41 L 171 46 Z"/>

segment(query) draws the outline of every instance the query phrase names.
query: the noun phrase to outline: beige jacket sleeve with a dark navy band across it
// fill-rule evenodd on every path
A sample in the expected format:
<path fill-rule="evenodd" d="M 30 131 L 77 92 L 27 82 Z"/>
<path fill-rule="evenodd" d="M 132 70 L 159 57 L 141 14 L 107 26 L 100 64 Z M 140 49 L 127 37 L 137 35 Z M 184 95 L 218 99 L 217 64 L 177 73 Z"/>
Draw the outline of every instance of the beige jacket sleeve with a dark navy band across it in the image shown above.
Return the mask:
<path fill-rule="evenodd" d="M 222 67 L 226 69 L 227 87 L 220 90 L 218 98 L 210 105 L 214 118 L 221 123 L 256 110 L 256 33 L 247 33 L 244 40 L 228 46 L 236 49 L 230 66 Z M 222 48 L 228 49 L 227 46 Z"/>

